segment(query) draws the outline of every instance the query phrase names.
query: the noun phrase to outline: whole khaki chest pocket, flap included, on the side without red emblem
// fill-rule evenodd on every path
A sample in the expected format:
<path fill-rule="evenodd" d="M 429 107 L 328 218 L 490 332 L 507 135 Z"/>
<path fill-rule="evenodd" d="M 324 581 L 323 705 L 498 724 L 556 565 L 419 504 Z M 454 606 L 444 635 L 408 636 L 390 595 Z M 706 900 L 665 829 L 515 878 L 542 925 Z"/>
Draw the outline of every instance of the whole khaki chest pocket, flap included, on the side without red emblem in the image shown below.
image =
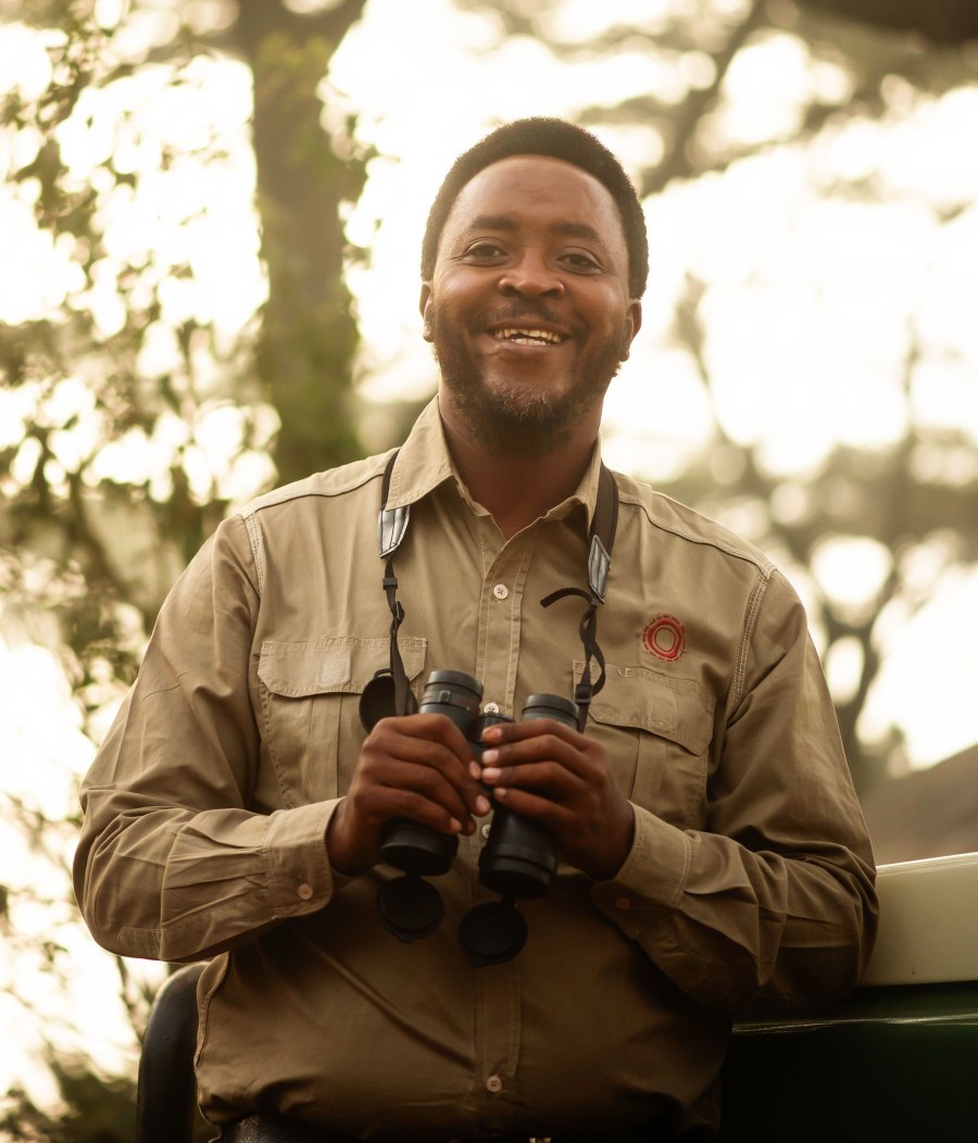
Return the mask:
<path fill-rule="evenodd" d="M 417 693 L 426 641 L 402 638 L 399 644 Z M 346 793 L 366 737 L 360 695 L 388 657 L 387 639 L 262 644 L 262 737 L 287 808 Z"/>

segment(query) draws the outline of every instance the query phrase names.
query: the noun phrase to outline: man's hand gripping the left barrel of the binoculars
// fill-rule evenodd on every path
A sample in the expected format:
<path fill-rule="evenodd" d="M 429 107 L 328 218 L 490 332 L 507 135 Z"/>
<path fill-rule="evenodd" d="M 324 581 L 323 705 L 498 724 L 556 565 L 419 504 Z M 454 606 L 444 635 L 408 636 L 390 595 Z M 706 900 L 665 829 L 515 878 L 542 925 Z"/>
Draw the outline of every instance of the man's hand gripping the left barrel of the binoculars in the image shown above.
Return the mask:
<path fill-rule="evenodd" d="M 440 833 L 473 833 L 472 815 L 488 814 L 490 807 L 471 765 L 468 743 L 444 714 L 380 719 L 329 822 L 326 847 L 334 869 L 360 873 L 376 865 L 380 830 L 395 817 Z"/>

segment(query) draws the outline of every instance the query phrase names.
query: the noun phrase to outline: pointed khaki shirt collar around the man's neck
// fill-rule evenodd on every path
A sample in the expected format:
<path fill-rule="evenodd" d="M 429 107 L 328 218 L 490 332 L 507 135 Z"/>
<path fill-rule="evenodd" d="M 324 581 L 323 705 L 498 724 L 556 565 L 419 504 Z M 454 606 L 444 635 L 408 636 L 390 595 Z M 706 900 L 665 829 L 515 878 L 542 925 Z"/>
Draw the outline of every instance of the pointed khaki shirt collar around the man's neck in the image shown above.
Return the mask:
<path fill-rule="evenodd" d="M 584 505 L 587 527 L 598 503 L 598 477 L 601 471 L 601 447 L 595 446 L 591 462 L 580 478 L 575 491 L 555 504 L 544 517 L 545 520 L 562 520 L 576 507 Z M 394 471 L 391 473 L 391 488 L 387 495 L 387 507 L 403 507 L 423 499 L 446 480 L 455 480 L 464 488 L 462 478 L 451 463 L 451 455 L 444 439 L 444 429 L 439 413 L 438 398 L 434 397 L 425 406 L 422 415 L 415 422 L 408 439 L 402 445 Z M 466 498 L 471 499 L 467 496 Z"/>

